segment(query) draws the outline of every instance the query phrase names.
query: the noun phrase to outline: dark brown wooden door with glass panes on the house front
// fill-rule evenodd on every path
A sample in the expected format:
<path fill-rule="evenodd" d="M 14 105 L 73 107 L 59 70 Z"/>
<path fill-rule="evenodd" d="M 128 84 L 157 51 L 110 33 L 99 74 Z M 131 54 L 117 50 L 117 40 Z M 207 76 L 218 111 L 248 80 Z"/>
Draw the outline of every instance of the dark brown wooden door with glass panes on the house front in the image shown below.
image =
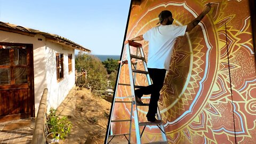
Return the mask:
<path fill-rule="evenodd" d="M 0 43 L 0 122 L 34 117 L 33 45 Z"/>

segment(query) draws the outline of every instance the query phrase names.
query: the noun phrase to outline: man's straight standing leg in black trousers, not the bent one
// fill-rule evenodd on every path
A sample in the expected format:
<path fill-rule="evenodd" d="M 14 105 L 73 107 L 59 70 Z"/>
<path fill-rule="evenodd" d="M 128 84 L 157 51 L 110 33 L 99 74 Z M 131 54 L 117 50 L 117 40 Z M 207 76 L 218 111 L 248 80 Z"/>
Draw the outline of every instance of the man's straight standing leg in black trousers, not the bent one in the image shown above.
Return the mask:
<path fill-rule="evenodd" d="M 166 74 L 165 69 L 150 69 L 149 75 L 153 81 L 153 85 L 150 86 L 151 96 L 149 102 L 149 109 L 147 119 L 150 122 L 155 122 L 155 116 L 157 113 L 157 103 L 160 98 L 160 91 L 164 84 L 164 78 Z"/>

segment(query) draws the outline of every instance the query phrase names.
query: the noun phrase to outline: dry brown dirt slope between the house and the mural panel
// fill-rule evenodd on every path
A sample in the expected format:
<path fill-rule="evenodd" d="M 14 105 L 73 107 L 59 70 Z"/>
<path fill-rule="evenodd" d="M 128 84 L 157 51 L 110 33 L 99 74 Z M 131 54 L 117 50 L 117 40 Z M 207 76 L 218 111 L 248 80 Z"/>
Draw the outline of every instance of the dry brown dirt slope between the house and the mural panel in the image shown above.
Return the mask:
<path fill-rule="evenodd" d="M 65 143 L 104 143 L 111 103 L 87 89 L 75 94 L 74 116 L 69 117 L 73 127 Z"/>

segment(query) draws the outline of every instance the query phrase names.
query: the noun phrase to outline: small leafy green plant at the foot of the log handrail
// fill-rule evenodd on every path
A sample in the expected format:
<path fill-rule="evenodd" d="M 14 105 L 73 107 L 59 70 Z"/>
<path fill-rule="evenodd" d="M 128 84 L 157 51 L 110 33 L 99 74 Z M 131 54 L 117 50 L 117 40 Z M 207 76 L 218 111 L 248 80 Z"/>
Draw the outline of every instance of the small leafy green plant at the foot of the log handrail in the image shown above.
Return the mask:
<path fill-rule="evenodd" d="M 65 139 L 65 137 L 70 133 L 72 127 L 68 117 L 58 117 L 56 115 L 56 109 L 53 108 L 50 109 L 50 114 L 47 115 L 46 122 L 48 126 L 47 132 L 53 132 L 53 138 L 55 139 Z"/>

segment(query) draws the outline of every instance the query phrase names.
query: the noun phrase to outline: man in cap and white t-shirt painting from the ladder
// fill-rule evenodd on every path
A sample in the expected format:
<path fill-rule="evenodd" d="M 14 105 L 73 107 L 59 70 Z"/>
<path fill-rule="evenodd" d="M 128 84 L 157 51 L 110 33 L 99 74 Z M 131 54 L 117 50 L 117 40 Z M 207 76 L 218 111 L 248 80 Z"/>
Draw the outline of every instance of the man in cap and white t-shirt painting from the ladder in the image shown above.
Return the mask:
<path fill-rule="evenodd" d="M 131 41 L 149 41 L 148 50 L 148 72 L 153 81 L 152 85 L 144 86 L 135 90 L 135 99 L 142 103 L 143 94 L 151 94 L 147 119 L 149 122 L 160 123 L 161 120 L 155 118 L 157 113 L 157 102 L 160 91 L 163 87 L 166 70 L 169 70 L 171 55 L 174 49 L 174 42 L 179 36 L 184 36 L 186 31 L 195 28 L 204 16 L 211 10 L 212 3 L 208 3 L 203 12 L 187 26 L 172 25 L 173 18 L 170 11 L 162 11 L 159 15 L 160 25 L 148 30 L 145 34 L 132 38 Z M 157 25 L 158 25 L 157 23 Z"/>

